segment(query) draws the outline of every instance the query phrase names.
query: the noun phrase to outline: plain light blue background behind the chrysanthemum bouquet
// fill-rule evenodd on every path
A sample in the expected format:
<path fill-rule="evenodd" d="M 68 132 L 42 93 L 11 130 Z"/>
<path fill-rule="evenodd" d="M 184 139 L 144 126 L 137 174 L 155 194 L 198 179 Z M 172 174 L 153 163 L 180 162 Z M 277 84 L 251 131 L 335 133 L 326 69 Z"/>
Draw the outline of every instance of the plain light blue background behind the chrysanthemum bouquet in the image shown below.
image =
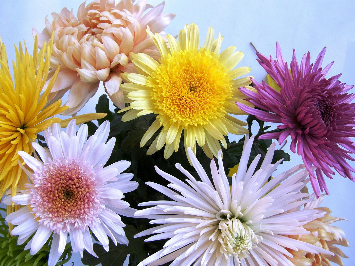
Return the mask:
<path fill-rule="evenodd" d="M 148 0 L 152 5 L 160 2 Z M 0 35 L 6 44 L 9 59 L 12 60 L 14 43 L 18 44 L 24 39 L 32 50 L 32 27 L 42 31 L 45 16 L 51 12 L 60 12 L 65 6 L 76 13 L 81 0 L 0 0 L 0 3 Z M 328 77 L 343 73 L 340 78 L 342 82 L 355 84 L 354 1 L 168 0 L 164 11 L 177 15 L 165 30 L 170 34 L 178 34 L 185 24 L 191 22 L 200 27 L 201 40 L 209 26 L 216 33 L 221 32 L 224 36 L 222 48 L 235 45 L 237 50 L 244 52 L 244 59 L 239 66 L 250 66 L 251 75 L 258 81 L 265 77 L 265 72 L 256 62 L 255 52 L 249 43 L 252 41 L 263 54 L 274 56 L 275 42 L 279 41 L 286 61 L 290 61 L 293 48 L 299 58 L 310 51 L 314 60 L 321 49 L 327 46 L 324 65 L 335 61 Z M 50 16 L 49 19 L 51 21 Z M 103 87 L 100 89 L 79 114 L 94 112 L 98 97 L 104 92 Z M 239 138 L 240 136 L 230 136 L 231 140 Z M 277 171 L 285 171 L 301 162 L 299 156 L 291 154 L 291 161 L 285 162 Z M 350 164 L 355 167 L 353 162 Z M 322 206 L 329 207 L 333 216 L 349 220 L 335 225 L 345 231 L 350 242 L 350 248 L 342 248 L 350 256 L 349 259 L 343 259 L 343 263 L 355 265 L 355 183 L 336 174 L 333 180 L 327 180 L 327 184 L 331 195 L 326 197 Z M 76 265 L 81 265 L 80 256 L 73 257 Z"/>

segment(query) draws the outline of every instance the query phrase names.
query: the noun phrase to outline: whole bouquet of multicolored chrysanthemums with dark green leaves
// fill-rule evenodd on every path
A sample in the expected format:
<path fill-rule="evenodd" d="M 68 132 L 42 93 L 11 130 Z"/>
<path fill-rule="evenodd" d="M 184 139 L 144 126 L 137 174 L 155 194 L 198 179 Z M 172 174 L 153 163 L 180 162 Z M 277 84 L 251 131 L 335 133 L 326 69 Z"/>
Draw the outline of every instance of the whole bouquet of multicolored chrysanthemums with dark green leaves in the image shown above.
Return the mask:
<path fill-rule="evenodd" d="M 0 43 L 0 265 L 342 265 L 344 218 L 320 204 L 333 170 L 354 181 L 353 86 L 326 77 L 325 49 L 287 63 L 278 43 L 257 81 L 212 28 L 202 45 L 196 24 L 163 32 L 163 7 L 52 13 L 13 77 Z M 116 109 L 104 94 L 75 116 L 101 82 Z M 304 164 L 276 173 L 287 137 Z"/>

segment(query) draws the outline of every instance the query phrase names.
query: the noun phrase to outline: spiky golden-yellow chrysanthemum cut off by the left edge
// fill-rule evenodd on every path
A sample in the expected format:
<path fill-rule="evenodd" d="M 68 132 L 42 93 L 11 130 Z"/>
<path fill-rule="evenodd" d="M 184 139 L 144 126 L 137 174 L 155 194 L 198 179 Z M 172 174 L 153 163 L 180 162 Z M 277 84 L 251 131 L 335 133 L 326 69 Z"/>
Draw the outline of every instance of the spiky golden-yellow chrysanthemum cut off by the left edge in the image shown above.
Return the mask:
<path fill-rule="evenodd" d="M 60 118 L 52 117 L 68 108 L 61 107 L 61 100 L 45 106 L 58 70 L 41 94 L 49 72 L 52 43 L 45 44 L 39 52 L 37 47 L 37 37 L 33 56 L 29 55 L 26 44 L 24 48 L 21 43 L 18 48 L 15 46 L 12 79 L 5 45 L 0 40 L 0 198 L 10 187 L 12 195 L 16 195 L 19 182 L 22 188 L 28 183 L 27 175 L 18 165 L 17 152 L 32 154 L 31 142 L 37 138 L 36 134 L 60 122 Z"/>

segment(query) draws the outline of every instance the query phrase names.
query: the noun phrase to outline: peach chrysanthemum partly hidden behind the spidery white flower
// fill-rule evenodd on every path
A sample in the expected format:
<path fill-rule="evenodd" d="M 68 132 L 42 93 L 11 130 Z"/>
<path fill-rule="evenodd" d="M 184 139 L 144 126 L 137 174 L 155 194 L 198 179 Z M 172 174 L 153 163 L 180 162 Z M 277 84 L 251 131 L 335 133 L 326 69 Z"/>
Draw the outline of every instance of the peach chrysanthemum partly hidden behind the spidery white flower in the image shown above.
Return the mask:
<path fill-rule="evenodd" d="M 340 217 L 331 216 L 331 210 L 326 207 L 319 207 L 320 203 L 323 200 L 323 197 L 320 196 L 319 199 L 316 199 L 316 195 L 312 194 L 311 198 L 315 201 L 310 201 L 305 205 L 305 210 L 319 210 L 324 213 L 324 216 L 317 218 L 313 221 L 306 223 L 302 228 L 310 231 L 311 234 L 307 235 L 289 235 L 289 237 L 307 242 L 313 245 L 316 245 L 325 250 L 331 251 L 334 255 L 328 254 L 314 254 L 304 250 L 295 251 L 293 249 L 287 249 L 292 255 L 293 258 L 289 258 L 295 265 L 299 266 L 332 266 L 331 262 L 335 262 L 338 265 L 343 265 L 342 259 L 340 257 L 347 258 L 342 250 L 337 246 L 349 246 L 348 240 L 346 240 L 342 235 L 345 235 L 343 230 L 339 227 L 332 226 L 331 224 L 340 221 L 346 220 Z"/>

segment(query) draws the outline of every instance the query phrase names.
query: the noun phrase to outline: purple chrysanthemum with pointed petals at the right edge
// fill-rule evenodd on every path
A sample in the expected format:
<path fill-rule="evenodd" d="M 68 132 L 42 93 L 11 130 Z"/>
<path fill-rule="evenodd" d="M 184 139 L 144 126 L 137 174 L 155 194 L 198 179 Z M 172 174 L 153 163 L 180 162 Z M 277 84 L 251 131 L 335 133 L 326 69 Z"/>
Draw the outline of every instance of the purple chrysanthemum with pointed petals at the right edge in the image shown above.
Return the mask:
<path fill-rule="evenodd" d="M 285 63 L 280 45 L 276 44 L 276 59 L 257 53 L 260 65 L 279 85 L 280 93 L 267 85 L 252 79 L 258 93 L 240 88 L 249 96 L 249 101 L 261 111 L 243 104 L 237 105 L 245 112 L 267 121 L 282 123 L 281 132 L 263 134 L 260 139 L 279 139 L 281 144 L 290 135 L 290 149 L 302 156 L 310 172 L 312 187 L 317 196 L 325 190 L 329 194 L 323 173 L 332 179 L 334 168 L 341 176 L 354 181 L 351 167 L 345 159 L 354 159 L 355 145 L 350 137 L 355 136 L 355 104 L 351 101 L 354 94 L 346 92 L 354 86 L 340 83 L 341 74 L 326 79 L 325 76 L 334 62 L 321 68 L 326 48 L 318 55 L 314 64 L 310 63 L 310 53 L 302 57 L 298 64 L 293 50 L 290 70 Z M 316 174 L 311 170 L 316 166 Z M 317 178 L 316 178 L 317 177 Z M 317 179 L 319 187 L 317 184 Z M 320 189 L 319 189 L 320 188 Z"/>

